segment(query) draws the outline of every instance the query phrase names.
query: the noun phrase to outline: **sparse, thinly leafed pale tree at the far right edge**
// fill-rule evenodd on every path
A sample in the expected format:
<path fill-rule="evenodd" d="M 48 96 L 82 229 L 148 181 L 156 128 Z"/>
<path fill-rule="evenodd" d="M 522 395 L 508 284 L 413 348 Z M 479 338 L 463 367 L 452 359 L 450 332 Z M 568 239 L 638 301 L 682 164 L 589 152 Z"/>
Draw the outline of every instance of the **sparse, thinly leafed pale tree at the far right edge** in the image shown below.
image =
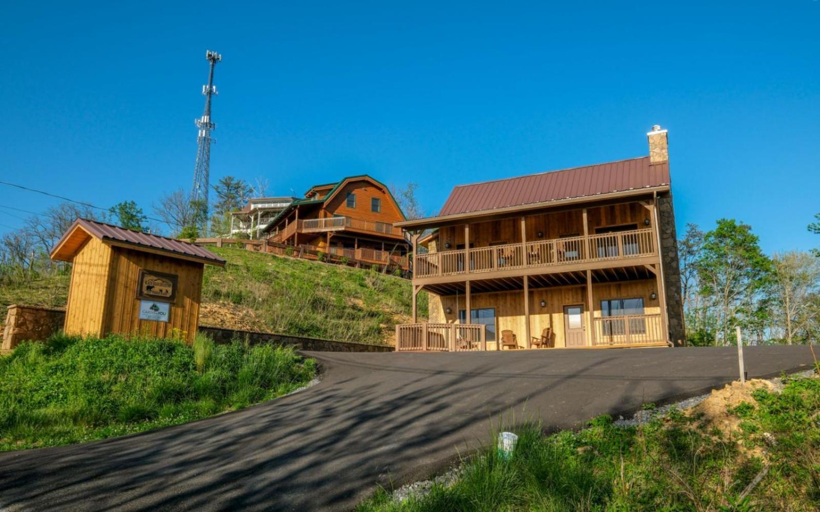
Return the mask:
<path fill-rule="evenodd" d="M 820 261 L 808 252 L 789 251 L 772 258 L 776 316 L 783 338 L 791 345 L 813 321 L 820 290 Z"/>

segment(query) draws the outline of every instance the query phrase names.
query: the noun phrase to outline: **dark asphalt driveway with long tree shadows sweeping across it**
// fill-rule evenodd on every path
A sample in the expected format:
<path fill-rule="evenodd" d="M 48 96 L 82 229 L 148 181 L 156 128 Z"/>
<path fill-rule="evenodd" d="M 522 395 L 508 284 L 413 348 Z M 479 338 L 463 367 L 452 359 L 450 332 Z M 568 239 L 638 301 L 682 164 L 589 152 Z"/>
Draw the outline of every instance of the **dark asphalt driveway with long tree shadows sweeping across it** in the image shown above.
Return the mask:
<path fill-rule="evenodd" d="M 702 393 L 729 348 L 456 354 L 308 352 L 321 383 L 194 424 L 0 454 L 0 510 L 348 510 L 425 478 L 499 417 L 549 428 Z M 750 377 L 808 369 L 808 347 L 749 347 Z"/>

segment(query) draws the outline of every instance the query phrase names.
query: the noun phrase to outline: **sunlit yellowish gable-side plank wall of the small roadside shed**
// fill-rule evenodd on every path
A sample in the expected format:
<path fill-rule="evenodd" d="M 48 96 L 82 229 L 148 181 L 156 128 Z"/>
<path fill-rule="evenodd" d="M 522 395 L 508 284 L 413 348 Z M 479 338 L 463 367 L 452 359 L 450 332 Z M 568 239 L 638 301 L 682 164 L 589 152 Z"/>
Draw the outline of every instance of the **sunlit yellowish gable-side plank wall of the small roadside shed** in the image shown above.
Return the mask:
<path fill-rule="evenodd" d="M 89 237 L 77 251 L 71 270 L 66 323 L 68 334 L 101 336 L 112 248 Z"/>

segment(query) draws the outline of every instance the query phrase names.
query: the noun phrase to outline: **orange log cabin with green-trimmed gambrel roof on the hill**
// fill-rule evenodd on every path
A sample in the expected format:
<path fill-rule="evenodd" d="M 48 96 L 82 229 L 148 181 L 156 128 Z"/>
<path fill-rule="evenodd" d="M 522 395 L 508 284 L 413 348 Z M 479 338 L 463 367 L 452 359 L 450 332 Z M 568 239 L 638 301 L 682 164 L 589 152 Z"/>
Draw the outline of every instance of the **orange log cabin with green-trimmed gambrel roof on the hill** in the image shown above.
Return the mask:
<path fill-rule="evenodd" d="M 314 185 L 262 232 L 270 242 L 407 268 L 409 244 L 402 229 L 393 225 L 402 220 L 389 188 L 363 174 Z"/>

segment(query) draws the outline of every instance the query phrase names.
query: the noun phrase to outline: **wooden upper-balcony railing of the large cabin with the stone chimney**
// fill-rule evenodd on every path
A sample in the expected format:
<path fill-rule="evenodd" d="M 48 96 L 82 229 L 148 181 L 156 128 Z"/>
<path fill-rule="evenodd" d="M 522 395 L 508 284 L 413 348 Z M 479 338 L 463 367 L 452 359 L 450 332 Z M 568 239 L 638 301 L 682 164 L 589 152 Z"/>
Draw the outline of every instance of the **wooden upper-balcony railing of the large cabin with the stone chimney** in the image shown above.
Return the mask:
<path fill-rule="evenodd" d="M 608 261 L 658 254 L 652 229 L 474 247 L 417 256 L 417 278 Z M 465 265 L 465 256 L 469 265 Z"/>

